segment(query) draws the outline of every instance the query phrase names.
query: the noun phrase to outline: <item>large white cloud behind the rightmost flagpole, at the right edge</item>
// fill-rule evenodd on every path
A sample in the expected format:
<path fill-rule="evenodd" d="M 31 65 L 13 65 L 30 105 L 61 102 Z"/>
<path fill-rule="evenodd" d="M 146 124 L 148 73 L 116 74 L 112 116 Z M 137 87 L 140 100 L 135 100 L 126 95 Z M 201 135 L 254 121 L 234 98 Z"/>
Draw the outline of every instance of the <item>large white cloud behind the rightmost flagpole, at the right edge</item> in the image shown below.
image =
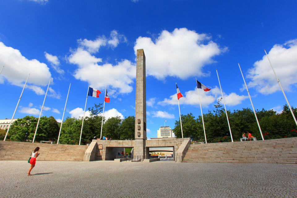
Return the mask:
<path fill-rule="evenodd" d="M 290 90 L 291 85 L 297 83 L 296 54 L 297 39 L 287 41 L 282 45 L 276 44 L 268 53 L 282 88 L 287 91 Z M 247 77 L 251 79 L 248 87 L 256 87 L 257 91 L 262 94 L 270 94 L 280 90 L 266 55 L 254 63 L 254 66 L 248 71 Z"/>

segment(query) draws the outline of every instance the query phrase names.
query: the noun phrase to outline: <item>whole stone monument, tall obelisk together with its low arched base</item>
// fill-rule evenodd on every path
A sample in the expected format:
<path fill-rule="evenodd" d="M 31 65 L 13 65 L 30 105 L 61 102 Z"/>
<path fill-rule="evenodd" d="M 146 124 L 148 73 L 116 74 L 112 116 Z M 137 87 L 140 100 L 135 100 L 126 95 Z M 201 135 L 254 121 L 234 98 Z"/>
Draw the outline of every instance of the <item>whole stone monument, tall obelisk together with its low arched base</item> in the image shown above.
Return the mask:
<path fill-rule="evenodd" d="M 93 140 L 84 154 L 84 161 L 114 160 L 116 148 L 133 148 L 136 161 L 149 159 L 151 147 L 173 147 L 174 161 L 181 162 L 191 144 L 190 138 L 147 140 L 146 137 L 146 81 L 145 55 L 137 49 L 136 96 L 135 96 L 135 140 Z"/>

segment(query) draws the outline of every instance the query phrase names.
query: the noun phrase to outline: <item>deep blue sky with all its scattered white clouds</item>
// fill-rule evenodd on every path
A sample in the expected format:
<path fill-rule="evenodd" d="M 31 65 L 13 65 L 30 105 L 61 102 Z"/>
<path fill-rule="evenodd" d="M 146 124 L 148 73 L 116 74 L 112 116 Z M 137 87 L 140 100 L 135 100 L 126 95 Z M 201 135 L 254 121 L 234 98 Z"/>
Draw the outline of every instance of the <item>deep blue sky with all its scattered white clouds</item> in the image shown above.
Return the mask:
<path fill-rule="evenodd" d="M 24 82 L 28 84 L 15 118 L 43 116 L 61 121 L 103 103 L 107 117 L 135 115 L 136 49 L 146 55 L 147 136 L 164 125 L 174 128 L 181 114 L 203 113 L 221 96 L 227 110 L 249 107 L 238 62 L 255 109 L 281 112 L 286 103 L 265 57 L 269 53 L 291 106 L 296 107 L 296 1 L 0 1 L 0 118 L 11 118 Z M 88 112 L 87 112 L 88 114 Z M 227 124 L 227 122 L 226 122 Z M 206 129 L 207 130 L 207 129 Z"/>

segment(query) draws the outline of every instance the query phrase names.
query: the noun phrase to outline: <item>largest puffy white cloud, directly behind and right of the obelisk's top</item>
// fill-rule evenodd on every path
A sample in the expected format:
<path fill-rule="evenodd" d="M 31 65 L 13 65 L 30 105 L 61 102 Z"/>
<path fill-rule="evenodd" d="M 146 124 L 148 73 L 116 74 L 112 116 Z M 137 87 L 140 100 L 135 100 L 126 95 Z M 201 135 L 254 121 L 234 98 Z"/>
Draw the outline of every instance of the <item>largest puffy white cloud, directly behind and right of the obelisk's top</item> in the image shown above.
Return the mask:
<path fill-rule="evenodd" d="M 187 28 L 176 28 L 173 32 L 162 31 L 155 42 L 148 37 L 136 39 L 134 51 L 144 49 L 146 74 L 157 79 L 175 76 L 187 79 L 190 76 L 205 76 L 202 68 L 215 62 L 213 57 L 226 51 L 210 41 L 206 34 Z M 187 69 L 184 69 L 184 68 Z"/>

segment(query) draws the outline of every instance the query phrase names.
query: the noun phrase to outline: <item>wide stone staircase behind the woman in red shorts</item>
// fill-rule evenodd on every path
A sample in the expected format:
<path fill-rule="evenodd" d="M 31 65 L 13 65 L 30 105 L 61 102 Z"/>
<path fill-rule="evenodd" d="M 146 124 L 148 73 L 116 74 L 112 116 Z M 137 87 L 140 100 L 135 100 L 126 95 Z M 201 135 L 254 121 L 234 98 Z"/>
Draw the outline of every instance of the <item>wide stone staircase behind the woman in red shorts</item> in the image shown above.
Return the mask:
<path fill-rule="evenodd" d="M 46 144 L 0 141 L 0 160 L 28 160 L 31 152 L 40 147 L 37 160 L 83 161 L 86 145 Z"/>

